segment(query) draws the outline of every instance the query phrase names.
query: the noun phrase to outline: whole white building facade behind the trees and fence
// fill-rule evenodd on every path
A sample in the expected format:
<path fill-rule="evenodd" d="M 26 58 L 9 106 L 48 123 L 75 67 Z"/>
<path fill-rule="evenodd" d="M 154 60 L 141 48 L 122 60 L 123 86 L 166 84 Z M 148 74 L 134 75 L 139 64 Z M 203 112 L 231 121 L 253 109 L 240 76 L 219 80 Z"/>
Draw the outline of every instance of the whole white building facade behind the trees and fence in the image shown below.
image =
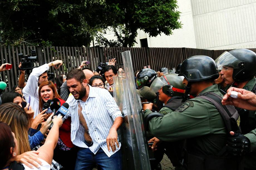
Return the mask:
<path fill-rule="evenodd" d="M 256 0 L 178 0 L 182 29 L 149 37 L 138 30 L 137 44 L 198 49 L 256 48 Z M 104 35 L 115 39 L 110 31 Z"/>

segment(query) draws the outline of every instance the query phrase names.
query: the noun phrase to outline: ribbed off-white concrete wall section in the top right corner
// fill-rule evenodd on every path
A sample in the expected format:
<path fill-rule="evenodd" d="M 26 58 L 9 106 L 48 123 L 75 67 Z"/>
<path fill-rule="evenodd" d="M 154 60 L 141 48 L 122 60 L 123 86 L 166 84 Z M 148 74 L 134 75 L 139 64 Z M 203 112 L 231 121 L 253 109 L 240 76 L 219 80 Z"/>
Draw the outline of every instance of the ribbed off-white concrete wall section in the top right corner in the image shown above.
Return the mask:
<path fill-rule="evenodd" d="M 191 0 L 196 47 L 256 47 L 256 0 Z"/>

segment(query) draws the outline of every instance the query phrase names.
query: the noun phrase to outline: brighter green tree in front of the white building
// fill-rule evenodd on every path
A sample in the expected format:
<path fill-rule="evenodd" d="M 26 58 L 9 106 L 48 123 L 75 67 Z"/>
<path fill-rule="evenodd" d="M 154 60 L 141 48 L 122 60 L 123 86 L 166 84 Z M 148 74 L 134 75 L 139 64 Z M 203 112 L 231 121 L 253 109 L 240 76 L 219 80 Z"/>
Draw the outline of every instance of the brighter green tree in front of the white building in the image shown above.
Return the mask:
<path fill-rule="evenodd" d="M 102 19 L 108 21 L 117 41 L 104 38 L 103 31 L 97 36 L 98 44 L 132 47 L 138 29 L 153 37 L 170 35 L 172 30 L 181 28 L 177 8 L 176 0 L 106 0 Z"/>

